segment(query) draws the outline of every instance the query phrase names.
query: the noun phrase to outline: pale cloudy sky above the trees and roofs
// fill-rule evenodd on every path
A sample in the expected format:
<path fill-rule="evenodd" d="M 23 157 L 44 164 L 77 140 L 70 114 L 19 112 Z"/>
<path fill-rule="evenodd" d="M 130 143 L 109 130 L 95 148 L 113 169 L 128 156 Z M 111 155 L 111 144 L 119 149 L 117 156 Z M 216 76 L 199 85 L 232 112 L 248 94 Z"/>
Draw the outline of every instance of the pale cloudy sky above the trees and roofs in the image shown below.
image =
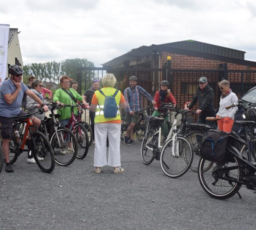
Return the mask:
<path fill-rule="evenodd" d="M 256 61 L 255 0 L 2 0 L 0 23 L 19 29 L 24 65 L 87 58 L 100 67 L 143 45 L 189 39 Z"/>

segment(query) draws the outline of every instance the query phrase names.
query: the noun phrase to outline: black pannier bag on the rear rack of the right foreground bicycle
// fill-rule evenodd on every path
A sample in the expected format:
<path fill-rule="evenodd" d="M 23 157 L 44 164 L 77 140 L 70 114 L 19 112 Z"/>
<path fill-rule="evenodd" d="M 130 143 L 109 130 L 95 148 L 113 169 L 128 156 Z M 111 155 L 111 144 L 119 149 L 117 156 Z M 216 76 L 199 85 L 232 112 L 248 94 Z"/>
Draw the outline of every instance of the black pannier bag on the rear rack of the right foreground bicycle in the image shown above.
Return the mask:
<path fill-rule="evenodd" d="M 228 135 L 226 132 L 210 129 L 202 139 L 201 156 L 207 161 L 224 160 Z"/>

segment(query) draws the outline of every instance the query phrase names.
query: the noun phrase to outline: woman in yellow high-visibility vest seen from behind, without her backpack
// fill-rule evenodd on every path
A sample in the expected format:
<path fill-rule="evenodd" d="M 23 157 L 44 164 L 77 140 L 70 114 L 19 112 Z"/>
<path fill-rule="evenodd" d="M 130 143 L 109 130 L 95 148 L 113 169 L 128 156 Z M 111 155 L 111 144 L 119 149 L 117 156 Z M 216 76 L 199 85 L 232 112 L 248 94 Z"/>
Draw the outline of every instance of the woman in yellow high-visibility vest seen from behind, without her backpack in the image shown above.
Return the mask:
<path fill-rule="evenodd" d="M 106 74 L 102 78 L 102 92 L 106 96 L 112 96 L 116 89 L 116 78 L 113 74 Z M 116 105 L 125 109 L 127 103 L 120 91 L 115 96 Z M 99 90 L 95 91 L 90 110 L 96 112 L 94 119 L 94 172 L 101 173 L 101 167 L 109 165 L 114 167 L 113 173 L 123 173 L 125 170 L 121 167 L 120 159 L 120 135 L 121 135 L 121 117 L 118 110 L 116 117 L 105 118 L 102 108 L 104 107 L 105 96 Z M 109 140 L 108 160 L 107 160 L 107 137 Z"/>

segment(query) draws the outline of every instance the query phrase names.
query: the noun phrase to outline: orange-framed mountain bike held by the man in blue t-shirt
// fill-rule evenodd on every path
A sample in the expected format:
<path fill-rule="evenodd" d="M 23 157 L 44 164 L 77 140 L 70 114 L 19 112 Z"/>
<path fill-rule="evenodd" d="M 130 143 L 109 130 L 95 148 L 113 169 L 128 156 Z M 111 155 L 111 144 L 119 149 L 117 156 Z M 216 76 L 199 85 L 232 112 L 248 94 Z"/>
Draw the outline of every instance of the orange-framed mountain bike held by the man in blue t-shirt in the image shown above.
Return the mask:
<path fill-rule="evenodd" d="M 43 110 L 39 111 L 43 112 Z M 12 126 L 13 133 L 12 139 L 10 141 L 9 160 L 10 164 L 13 164 L 17 160 L 20 153 L 22 153 L 23 151 L 29 151 L 24 149 L 27 135 L 29 133 L 31 136 L 31 145 L 33 148 L 32 155 L 35 159 L 36 164 L 43 172 L 51 173 L 55 167 L 54 152 L 52 150 L 52 146 L 47 137 L 43 133 L 39 132 L 38 129 L 33 132 L 31 130 L 31 126 L 34 126 L 31 117 L 36 113 L 38 112 L 10 117 L 10 119 L 15 120 L 14 125 Z M 18 131 L 17 127 L 19 127 L 22 123 L 26 123 L 25 132 L 23 133 L 23 135 L 20 136 L 20 138 L 17 138 L 15 136 L 15 131 Z"/>

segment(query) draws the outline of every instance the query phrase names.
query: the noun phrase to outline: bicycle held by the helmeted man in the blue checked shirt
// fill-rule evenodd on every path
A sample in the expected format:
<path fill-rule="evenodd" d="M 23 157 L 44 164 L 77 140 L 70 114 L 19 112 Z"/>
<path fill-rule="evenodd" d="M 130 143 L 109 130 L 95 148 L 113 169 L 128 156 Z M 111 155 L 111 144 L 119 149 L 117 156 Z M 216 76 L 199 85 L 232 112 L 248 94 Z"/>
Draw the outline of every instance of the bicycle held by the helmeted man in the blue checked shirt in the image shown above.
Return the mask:
<path fill-rule="evenodd" d="M 145 136 L 145 117 L 148 115 L 147 110 L 153 105 L 149 105 L 138 112 L 134 112 L 135 115 L 139 115 L 137 123 L 134 126 L 134 133 L 139 141 L 143 141 Z M 125 135 L 126 130 L 128 129 L 129 124 L 125 121 L 125 118 L 121 116 L 122 124 L 121 124 L 121 140 L 123 141 L 123 136 Z"/>

